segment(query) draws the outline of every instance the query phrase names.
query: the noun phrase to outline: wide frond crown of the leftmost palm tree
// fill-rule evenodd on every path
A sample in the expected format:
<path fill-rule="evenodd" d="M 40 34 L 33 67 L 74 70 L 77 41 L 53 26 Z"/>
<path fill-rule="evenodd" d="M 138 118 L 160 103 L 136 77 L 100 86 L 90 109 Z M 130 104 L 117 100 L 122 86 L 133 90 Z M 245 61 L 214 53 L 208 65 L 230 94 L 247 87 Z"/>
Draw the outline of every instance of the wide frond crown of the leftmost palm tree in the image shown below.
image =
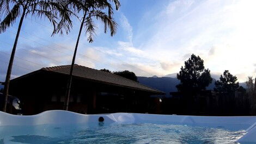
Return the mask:
<path fill-rule="evenodd" d="M 13 26 L 17 18 L 27 16 L 47 18 L 53 26 L 53 34 L 69 33 L 72 28 L 71 11 L 66 6 L 66 3 L 54 0 L 0 0 L 0 33 Z"/>

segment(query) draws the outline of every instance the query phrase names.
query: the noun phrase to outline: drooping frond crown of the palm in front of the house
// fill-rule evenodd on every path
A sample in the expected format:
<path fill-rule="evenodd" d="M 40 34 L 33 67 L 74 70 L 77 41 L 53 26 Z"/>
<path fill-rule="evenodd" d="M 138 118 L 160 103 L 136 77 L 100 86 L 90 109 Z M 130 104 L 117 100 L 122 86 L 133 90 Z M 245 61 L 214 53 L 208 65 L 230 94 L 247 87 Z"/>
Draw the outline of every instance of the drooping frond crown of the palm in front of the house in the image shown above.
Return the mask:
<path fill-rule="evenodd" d="M 69 8 L 74 11 L 74 15 L 79 18 L 82 26 L 84 27 L 88 42 L 94 41 L 97 29 L 94 20 L 100 20 L 104 25 L 104 33 L 110 30 L 111 36 L 117 32 L 117 23 L 113 18 L 112 3 L 115 5 L 115 9 L 120 8 L 120 2 L 118 0 L 73 0 L 69 1 Z M 81 15 L 81 16 L 80 16 Z"/>

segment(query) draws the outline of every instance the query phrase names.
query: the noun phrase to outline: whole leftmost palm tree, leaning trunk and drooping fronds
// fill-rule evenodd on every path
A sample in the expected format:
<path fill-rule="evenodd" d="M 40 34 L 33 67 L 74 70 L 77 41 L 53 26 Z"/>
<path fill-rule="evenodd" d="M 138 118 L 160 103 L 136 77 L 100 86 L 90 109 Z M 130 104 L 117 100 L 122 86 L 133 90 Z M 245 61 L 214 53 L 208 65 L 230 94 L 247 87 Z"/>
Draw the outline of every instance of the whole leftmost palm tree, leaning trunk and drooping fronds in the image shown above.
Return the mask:
<path fill-rule="evenodd" d="M 72 28 L 72 21 L 69 18 L 71 12 L 67 9 L 66 6 L 66 3 L 58 0 L 0 0 L 0 34 L 4 33 L 5 30 L 12 26 L 16 19 L 20 17 L 19 27 L 17 29 L 13 50 L 11 52 L 8 65 L 7 75 L 5 78 L 5 101 L 3 107 L 4 112 L 6 111 L 7 106 L 11 69 L 13 67 L 16 46 L 24 18 L 27 16 L 34 16 L 38 18 L 47 17 L 47 19 L 52 23 L 54 27 L 52 35 L 56 33 L 62 34 L 63 29 L 66 33 L 68 33 L 70 28 Z M 2 17 L 4 17 L 3 20 L 1 20 Z M 59 22 L 57 22 L 58 19 Z"/>

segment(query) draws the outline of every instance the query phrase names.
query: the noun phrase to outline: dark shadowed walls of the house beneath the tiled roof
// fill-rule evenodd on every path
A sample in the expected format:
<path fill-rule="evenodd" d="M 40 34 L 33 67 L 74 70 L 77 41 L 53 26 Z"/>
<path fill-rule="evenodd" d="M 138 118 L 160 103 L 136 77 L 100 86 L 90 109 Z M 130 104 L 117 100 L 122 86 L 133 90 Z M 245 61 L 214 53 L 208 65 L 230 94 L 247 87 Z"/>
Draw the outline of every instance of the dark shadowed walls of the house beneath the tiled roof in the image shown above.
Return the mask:
<path fill-rule="evenodd" d="M 20 98 L 23 114 L 62 110 L 68 76 L 47 71 L 13 80 L 10 95 Z M 81 114 L 149 112 L 150 93 L 73 78 L 69 110 Z"/>

